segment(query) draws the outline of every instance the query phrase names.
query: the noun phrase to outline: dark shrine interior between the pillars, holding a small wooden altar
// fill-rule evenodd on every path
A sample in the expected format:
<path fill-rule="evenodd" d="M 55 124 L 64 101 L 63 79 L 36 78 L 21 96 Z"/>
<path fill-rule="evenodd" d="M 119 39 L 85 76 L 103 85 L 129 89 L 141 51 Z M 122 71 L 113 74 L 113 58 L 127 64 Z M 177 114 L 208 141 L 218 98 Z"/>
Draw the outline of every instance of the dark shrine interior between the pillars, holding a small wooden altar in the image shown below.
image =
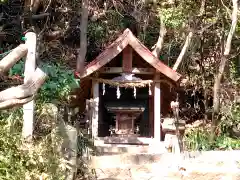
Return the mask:
<path fill-rule="evenodd" d="M 112 128 L 122 128 L 126 130 L 121 136 L 137 136 L 150 137 L 151 128 L 149 127 L 149 87 L 136 87 L 136 97 L 134 97 L 133 88 L 120 88 L 121 96 L 117 98 L 117 87 L 105 85 L 105 93 L 103 93 L 103 84 L 99 84 L 99 137 L 111 136 Z M 118 124 L 116 118 L 119 114 L 125 118 L 120 120 L 128 121 L 127 123 Z M 121 116 L 123 117 L 123 116 Z M 132 123 L 131 123 L 131 122 Z M 128 125 L 134 127 L 134 132 L 128 132 Z M 116 127 L 117 126 L 117 127 Z M 126 127 L 124 127 L 126 126 Z M 133 128 L 132 128 L 133 129 Z M 119 134 L 112 134 L 119 136 Z"/>

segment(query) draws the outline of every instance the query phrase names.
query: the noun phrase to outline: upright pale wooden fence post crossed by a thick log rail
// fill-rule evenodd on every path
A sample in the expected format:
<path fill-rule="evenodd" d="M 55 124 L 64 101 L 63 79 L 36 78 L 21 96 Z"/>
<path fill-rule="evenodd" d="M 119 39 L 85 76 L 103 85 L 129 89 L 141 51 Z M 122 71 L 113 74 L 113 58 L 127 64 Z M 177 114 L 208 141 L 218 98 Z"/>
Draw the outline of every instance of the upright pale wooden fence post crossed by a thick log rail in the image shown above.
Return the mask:
<path fill-rule="evenodd" d="M 36 66 L 36 34 L 33 32 L 28 32 L 25 35 L 26 45 L 28 47 L 28 53 L 25 62 L 24 71 L 24 83 L 26 83 L 35 71 Z M 33 134 L 33 121 L 34 121 L 34 100 L 23 105 L 23 129 L 22 136 L 23 139 L 27 141 L 32 140 Z"/>

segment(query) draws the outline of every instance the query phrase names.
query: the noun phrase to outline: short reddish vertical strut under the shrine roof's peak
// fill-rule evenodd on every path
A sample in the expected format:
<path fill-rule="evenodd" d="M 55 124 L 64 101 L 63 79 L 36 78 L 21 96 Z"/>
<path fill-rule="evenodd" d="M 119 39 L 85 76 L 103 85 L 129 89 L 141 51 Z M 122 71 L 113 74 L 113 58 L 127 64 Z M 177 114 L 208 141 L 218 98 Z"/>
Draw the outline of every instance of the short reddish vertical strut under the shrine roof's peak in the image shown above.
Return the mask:
<path fill-rule="evenodd" d="M 132 47 L 131 46 L 127 46 L 123 50 L 122 68 L 123 68 L 123 72 L 125 73 L 132 72 Z"/>

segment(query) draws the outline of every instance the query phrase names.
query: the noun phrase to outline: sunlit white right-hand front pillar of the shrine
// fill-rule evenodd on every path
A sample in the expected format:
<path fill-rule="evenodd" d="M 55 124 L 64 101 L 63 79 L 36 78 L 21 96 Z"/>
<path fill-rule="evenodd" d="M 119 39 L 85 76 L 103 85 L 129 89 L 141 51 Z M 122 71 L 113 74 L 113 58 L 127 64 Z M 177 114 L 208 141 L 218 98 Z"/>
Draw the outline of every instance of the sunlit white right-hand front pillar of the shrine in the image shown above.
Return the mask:
<path fill-rule="evenodd" d="M 160 89 L 160 82 L 154 83 L 154 139 L 157 142 L 161 141 L 161 89 Z"/>

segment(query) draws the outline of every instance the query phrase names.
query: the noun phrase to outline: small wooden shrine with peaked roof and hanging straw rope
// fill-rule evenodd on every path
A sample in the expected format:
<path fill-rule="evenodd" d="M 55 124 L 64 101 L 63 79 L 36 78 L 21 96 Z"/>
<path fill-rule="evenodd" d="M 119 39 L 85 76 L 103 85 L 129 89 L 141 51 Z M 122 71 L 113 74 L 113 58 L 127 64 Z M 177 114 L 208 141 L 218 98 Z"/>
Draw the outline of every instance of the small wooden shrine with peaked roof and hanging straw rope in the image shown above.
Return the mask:
<path fill-rule="evenodd" d="M 180 77 L 126 29 L 80 76 L 81 109 L 87 102 L 92 135 L 160 141 L 161 118 L 171 111 Z"/>

